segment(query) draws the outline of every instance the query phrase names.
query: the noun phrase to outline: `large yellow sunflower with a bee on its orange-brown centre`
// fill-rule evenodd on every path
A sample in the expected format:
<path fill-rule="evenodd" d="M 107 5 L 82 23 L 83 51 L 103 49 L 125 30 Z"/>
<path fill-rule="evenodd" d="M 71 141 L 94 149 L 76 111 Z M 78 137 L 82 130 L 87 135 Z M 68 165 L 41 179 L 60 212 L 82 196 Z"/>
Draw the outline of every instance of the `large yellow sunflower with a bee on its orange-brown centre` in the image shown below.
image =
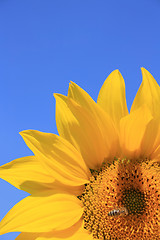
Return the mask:
<path fill-rule="evenodd" d="M 97 103 L 75 83 L 55 94 L 60 136 L 20 134 L 34 156 L 0 167 L 0 177 L 31 195 L 0 222 L 17 240 L 137 240 L 160 236 L 160 88 L 143 81 L 128 113 L 118 70 Z"/>

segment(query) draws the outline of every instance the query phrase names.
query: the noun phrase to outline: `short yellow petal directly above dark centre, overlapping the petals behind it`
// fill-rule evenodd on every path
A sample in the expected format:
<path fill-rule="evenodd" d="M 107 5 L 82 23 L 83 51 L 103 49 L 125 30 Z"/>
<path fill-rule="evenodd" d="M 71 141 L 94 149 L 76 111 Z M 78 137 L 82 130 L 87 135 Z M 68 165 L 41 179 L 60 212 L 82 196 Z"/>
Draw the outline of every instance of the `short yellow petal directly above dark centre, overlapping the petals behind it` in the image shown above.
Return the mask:
<path fill-rule="evenodd" d="M 120 143 L 124 157 L 131 159 L 141 156 L 141 143 L 152 116 L 143 105 L 120 121 Z"/>

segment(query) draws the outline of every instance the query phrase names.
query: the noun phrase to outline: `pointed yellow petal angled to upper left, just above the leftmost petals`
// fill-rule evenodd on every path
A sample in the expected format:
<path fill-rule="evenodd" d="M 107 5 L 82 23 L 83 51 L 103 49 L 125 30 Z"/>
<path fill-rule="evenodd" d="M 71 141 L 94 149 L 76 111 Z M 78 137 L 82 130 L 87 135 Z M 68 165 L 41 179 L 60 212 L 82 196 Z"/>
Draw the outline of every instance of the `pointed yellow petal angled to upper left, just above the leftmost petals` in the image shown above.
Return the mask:
<path fill-rule="evenodd" d="M 89 169 L 79 152 L 65 139 L 52 133 L 34 130 L 20 134 L 36 158 L 59 182 L 78 186 L 88 181 Z"/>

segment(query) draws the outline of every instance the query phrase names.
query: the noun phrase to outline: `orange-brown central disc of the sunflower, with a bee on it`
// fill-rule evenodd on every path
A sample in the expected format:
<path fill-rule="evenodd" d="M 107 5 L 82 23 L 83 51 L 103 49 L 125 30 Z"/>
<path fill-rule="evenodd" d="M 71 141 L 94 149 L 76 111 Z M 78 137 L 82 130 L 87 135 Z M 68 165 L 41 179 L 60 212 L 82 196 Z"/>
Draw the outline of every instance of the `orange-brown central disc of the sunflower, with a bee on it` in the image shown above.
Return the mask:
<path fill-rule="evenodd" d="M 79 198 L 84 205 L 84 228 L 93 239 L 159 239 L 160 180 L 156 164 L 117 159 L 91 173 L 90 183 Z"/>

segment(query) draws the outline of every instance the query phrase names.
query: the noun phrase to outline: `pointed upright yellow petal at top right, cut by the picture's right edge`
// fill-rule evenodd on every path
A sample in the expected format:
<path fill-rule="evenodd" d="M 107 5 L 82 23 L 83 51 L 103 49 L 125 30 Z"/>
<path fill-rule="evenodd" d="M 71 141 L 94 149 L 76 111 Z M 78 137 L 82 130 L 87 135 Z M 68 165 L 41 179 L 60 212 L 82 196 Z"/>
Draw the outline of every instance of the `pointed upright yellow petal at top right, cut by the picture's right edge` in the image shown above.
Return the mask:
<path fill-rule="evenodd" d="M 146 104 L 154 117 L 160 117 L 160 87 L 153 76 L 142 68 L 143 81 L 133 101 L 131 112 Z"/>

